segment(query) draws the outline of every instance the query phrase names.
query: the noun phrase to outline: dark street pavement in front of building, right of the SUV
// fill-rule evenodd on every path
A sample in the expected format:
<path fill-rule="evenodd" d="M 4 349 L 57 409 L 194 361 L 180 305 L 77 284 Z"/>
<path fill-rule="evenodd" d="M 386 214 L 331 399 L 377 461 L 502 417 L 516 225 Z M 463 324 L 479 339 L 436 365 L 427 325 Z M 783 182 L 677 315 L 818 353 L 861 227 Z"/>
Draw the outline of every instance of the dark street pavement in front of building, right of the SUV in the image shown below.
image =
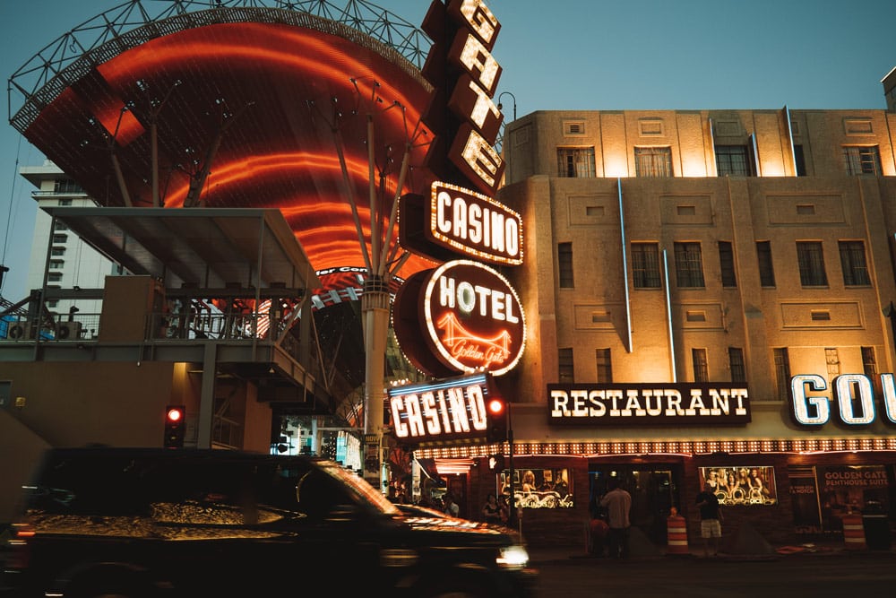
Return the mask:
<path fill-rule="evenodd" d="M 843 598 L 896 595 L 896 549 L 842 542 L 771 547 L 729 542 L 705 558 L 702 544 L 669 554 L 635 537 L 629 559 L 596 558 L 584 546 L 530 547 L 538 598 Z"/>

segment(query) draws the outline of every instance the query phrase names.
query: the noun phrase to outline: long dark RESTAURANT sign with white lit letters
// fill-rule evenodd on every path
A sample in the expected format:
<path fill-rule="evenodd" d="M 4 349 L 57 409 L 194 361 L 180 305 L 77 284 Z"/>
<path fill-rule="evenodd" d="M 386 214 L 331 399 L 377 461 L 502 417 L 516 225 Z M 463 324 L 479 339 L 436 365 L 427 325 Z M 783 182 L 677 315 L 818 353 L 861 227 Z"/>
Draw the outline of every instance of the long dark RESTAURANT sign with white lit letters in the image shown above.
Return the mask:
<path fill-rule="evenodd" d="M 689 426 L 750 422 L 746 386 L 725 383 L 549 384 L 554 425 Z"/>

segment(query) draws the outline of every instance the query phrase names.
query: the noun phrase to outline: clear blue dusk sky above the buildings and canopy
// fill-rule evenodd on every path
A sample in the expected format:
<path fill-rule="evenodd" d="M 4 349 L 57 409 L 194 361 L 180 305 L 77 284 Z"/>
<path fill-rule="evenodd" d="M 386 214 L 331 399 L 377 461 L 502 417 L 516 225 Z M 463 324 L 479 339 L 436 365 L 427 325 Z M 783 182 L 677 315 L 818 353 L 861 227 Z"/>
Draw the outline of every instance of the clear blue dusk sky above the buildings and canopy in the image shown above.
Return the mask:
<path fill-rule="evenodd" d="M 167 0 L 144 0 L 153 6 Z M 347 0 L 331 0 L 344 5 Z M 0 0 L 0 75 L 121 0 Z M 213 4 L 210 2 L 209 4 Z M 419 25 L 429 0 L 377 0 Z M 886 108 L 896 2 L 487 0 L 501 22 L 504 115 L 536 110 Z M 152 11 L 157 10 L 152 8 Z M 0 124 L 0 294 L 23 299 L 36 204 L 17 175 L 43 155 Z"/>

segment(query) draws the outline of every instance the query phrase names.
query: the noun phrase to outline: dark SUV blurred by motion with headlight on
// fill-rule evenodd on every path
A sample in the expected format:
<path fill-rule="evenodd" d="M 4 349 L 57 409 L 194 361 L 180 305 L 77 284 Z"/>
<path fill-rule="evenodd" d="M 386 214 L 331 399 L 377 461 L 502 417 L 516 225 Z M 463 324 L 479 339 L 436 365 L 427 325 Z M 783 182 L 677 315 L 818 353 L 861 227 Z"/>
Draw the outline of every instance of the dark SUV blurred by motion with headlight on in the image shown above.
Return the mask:
<path fill-rule="evenodd" d="M 24 498 L 4 568 L 22 595 L 529 596 L 538 578 L 513 531 L 409 515 L 314 458 L 54 449 Z"/>

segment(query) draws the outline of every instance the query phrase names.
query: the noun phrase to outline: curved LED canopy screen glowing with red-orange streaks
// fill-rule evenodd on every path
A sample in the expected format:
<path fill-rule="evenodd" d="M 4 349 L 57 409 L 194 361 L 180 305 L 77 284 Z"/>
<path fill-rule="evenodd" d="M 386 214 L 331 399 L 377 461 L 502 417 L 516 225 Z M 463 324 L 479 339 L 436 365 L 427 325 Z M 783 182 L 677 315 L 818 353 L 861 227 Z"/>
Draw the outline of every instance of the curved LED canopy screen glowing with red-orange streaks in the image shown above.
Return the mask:
<path fill-rule="evenodd" d="M 158 196 L 165 207 L 279 208 L 315 270 L 364 266 L 349 198 L 369 246 L 368 116 L 374 221 L 389 219 L 409 143 L 402 193 L 432 180 L 421 165 L 433 134 L 418 127 L 430 88 L 417 70 L 358 31 L 313 17 L 307 28 L 170 21 L 153 24 L 167 35 L 121 54 L 109 42 L 104 62 L 66 69 L 73 82 L 31 122 L 29 141 L 100 204 L 147 207 Z M 399 274 L 432 265 L 412 256 Z"/>

